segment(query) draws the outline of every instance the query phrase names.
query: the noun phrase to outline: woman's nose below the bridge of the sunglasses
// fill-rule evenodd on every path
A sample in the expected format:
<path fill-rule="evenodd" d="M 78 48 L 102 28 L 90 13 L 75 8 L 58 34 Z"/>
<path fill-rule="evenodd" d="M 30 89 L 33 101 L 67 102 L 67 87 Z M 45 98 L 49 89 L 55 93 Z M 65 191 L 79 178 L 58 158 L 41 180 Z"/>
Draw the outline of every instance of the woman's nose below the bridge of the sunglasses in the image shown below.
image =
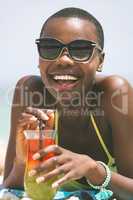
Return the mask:
<path fill-rule="evenodd" d="M 56 61 L 57 64 L 65 66 L 65 65 L 73 65 L 74 61 L 69 55 L 69 52 L 67 48 L 64 48 L 63 51 L 61 52 L 61 55 Z"/>

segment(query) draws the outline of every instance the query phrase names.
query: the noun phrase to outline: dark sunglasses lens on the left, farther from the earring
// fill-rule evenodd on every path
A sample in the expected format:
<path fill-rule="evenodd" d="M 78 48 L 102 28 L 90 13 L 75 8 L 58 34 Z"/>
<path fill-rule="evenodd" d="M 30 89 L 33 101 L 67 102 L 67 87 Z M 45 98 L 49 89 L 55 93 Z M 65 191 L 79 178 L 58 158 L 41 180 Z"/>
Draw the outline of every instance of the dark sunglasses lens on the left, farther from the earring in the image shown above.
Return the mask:
<path fill-rule="evenodd" d="M 61 43 L 52 38 L 40 39 L 38 43 L 40 57 L 44 59 L 54 60 L 61 51 Z"/>

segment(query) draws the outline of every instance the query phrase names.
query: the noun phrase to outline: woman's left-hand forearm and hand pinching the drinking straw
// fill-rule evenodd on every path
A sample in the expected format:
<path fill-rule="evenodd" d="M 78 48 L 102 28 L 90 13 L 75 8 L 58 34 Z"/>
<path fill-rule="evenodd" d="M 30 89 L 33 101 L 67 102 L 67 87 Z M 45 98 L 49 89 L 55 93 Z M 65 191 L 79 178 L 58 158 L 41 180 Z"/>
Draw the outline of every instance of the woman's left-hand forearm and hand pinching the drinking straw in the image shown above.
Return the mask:
<path fill-rule="evenodd" d="M 24 136 L 25 130 L 38 130 L 39 122 L 38 119 L 46 122 L 49 120 L 53 113 L 44 113 L 43 110 L 37 108 L 28 107 L 24 113 L 21 114 L 18 120 L 17 136 L 16 136 L 16 162 L 25 163 L 27 141 Z M 53 119 L 52 117 L 50 119 Z M 50 123 L 50 122 L 49 122 Z M 52 123 L 52 122 L 51 122 Z"/>

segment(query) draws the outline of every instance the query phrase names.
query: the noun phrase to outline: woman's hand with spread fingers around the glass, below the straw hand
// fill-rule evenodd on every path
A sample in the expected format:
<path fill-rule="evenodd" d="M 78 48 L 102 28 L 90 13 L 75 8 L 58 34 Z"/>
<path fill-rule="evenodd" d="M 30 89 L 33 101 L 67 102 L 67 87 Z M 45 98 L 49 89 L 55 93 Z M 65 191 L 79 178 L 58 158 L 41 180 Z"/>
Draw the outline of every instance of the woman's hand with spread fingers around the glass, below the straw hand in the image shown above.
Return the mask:
<path fill-rule="evenodd" d="M 100 184 L 105 178 L 105 169 L 87 155 L 73 153 L 57 145 L 51 145 L 33 155 L 33 159 L 39 159 L 48 153 L 54 153 L 54 157 L 44 161 L 40 166 L 29 172 L 29 176 L 44 172 L 44 175 L 37 177 L 37 183 L 48 181 L 52 177 L 59 178 L 53 183 L 56 188 L 68 181 L 77 180 L 82 177 L 89 178 L 92 183 Z M 49 172 L 48 169 L 54 169 Z M 96 177 L 97 176 L 97 179 Z"/>

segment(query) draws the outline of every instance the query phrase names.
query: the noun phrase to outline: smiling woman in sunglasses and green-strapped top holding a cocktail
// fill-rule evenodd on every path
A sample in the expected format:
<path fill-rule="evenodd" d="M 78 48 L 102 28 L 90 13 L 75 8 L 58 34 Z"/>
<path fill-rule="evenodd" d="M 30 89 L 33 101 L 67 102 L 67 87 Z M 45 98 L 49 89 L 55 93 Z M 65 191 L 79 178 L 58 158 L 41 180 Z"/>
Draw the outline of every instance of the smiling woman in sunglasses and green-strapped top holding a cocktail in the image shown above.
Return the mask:
<path fill-rule="evenodd" d="M 41 78 L 24 77 L 17 84 L 4 186 L 23 187 L 25 162 L 16 135 L 27 127 L 36 129 L 38 118 L 48 119 L 40 108 L 56 108 L 59 146 L 50 146 L 43 154 L 53 151 L 58 167 L 37 182 L 64 174 L 54 188 L 76 180 L 79 187 L 75 184 L 73 191 L 91 187 L 97 192 L 88 189 L 86 193 L 94 199 L 100 198 L 100 188 L 108 193 L 107 199 L 111 191 L 117 199 L 133 199 L 133 90 L 119 76 L 96 75 L 104 61 L 100 23 L 84 10 L 65 8 L 48 18 L 36 44 Z M 38 152 L 34 159 L 41 155 Z M 31 175 L 54 162 L 49 159 Z M 114 166 L 118 173 L 113 172 Z"/>

